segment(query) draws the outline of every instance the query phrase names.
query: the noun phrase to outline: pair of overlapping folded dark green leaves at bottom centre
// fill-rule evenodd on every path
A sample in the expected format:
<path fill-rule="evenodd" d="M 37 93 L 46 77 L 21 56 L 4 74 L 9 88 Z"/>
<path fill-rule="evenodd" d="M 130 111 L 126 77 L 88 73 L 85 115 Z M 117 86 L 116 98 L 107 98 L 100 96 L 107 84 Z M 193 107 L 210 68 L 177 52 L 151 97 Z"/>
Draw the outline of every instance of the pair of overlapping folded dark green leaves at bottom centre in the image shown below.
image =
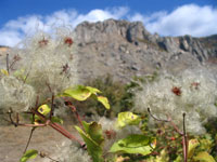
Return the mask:
<path fill-rule="evenodd" d="M 102 127 L 97 122 L 82 122 L 85 131 L 80 127 L 75 126 L 78 131 L 82 139 L 85 140 L 88 149 L 88 153 L 92 157 L 93 162 L 103 162 L 102 158 L 102 145 L 103 145 L 103 136 L 102 136 Z"/>

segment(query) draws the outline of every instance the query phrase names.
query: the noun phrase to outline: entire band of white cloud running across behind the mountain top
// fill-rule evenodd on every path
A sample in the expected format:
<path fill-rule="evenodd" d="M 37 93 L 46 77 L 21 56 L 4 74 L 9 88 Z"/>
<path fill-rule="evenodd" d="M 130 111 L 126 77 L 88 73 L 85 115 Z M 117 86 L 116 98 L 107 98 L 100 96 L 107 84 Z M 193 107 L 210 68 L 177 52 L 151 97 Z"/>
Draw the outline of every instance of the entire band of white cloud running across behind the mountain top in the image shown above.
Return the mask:
<path fill-rule="evenodd" d="M 140 21 L 149 31 L 158 32 L 162 36 L 201 37 L 217 33 L 217 9 L 210 5 L 187 4 L 170 13 L 157 11 L 151 15 L 131 14 L 128 8 L 119 6 L 105 10 L 95 9 L 87 14 L 80 14 L 76 10 L 61 10 L 51 15 L 28 15 L 9 21 L 0 29 L 0 44 L 13 46 L 36 30 L 42 29 L 49 32 L 60 25 L 69 25 L 74 28 L 84 21 L 98 22 L 107 18 Z"/>

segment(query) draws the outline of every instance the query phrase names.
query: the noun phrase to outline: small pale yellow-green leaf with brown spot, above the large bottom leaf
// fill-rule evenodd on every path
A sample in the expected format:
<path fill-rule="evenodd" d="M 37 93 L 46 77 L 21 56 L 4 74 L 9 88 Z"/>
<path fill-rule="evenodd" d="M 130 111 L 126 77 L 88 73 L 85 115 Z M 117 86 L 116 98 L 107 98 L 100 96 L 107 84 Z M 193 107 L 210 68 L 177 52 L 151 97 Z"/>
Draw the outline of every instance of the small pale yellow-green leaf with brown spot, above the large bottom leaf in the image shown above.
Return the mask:
<path fill-rule="evenodd" d="M 130 111 L 119 112 L 117 118 L 117 126 L 124 127 L 126 125 L 138 125 L 140 121 L 141 118 Z"/>

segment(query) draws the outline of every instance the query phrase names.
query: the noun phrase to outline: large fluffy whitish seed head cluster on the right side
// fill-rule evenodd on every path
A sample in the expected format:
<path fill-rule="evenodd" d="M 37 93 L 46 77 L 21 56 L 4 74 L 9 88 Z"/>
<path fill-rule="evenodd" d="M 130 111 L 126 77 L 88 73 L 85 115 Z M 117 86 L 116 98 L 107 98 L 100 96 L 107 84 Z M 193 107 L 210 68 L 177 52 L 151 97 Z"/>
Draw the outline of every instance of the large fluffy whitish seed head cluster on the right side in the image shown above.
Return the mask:
<path fill-rule="evenodd" d="M 187 130 L 193 134 L 204 133 L 203 124 L 217 114 L 217 82 L 207 69 L 186 70 L 177 76 L 164 73 L 155 82 L 142 86 L 136 96 L 136 110 L 145 112 L 150 108 L 159 119 L 169 116 L 180 130 L 183 112 Z"/>

